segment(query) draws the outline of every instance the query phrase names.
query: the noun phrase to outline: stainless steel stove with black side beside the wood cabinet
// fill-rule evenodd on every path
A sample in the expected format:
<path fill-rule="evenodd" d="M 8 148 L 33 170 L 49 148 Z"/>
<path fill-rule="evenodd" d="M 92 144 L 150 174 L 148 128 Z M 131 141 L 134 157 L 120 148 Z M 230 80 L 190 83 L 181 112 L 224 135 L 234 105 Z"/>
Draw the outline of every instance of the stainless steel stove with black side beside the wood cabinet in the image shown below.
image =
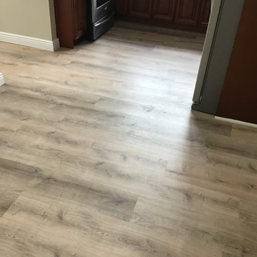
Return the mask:
<path fill-rule="evenodd" d="M 115 0 L 87 0 L 87 38 L 96 40 L 114 23 Z"/>

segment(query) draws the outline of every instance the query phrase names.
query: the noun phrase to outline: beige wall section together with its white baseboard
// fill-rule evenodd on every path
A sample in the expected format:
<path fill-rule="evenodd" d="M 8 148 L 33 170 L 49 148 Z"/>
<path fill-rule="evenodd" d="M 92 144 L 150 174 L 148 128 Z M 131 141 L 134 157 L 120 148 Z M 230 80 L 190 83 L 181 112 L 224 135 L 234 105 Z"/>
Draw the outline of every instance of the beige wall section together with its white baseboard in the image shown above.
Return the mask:
<path fill-rule="evenodd" d="M 59 48 L 54 0 L 0 2 L 0 41 L 50 51 Z"/>

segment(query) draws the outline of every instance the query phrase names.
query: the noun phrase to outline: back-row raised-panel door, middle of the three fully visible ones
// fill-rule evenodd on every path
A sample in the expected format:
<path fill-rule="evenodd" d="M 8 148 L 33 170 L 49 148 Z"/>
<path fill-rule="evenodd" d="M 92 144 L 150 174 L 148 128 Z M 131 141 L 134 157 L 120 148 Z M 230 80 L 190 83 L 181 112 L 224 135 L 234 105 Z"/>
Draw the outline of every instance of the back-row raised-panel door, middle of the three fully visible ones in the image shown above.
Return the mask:
<path fill-rule="evenodd" d="M 153 17 L 157 20 L 174 21 L 176 0 L 154 0 Z"/>

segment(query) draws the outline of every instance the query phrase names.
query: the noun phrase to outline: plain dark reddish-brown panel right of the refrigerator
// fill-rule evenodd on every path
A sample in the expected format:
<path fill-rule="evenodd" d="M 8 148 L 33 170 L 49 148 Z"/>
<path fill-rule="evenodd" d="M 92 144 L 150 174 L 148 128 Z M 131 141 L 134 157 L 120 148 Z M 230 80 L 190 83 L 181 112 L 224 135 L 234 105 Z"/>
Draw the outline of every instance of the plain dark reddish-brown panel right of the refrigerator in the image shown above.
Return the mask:
<path fill-rule="evenodd" d="M 245 0 L 216 116 L 257 124 L 257 0 Z"/>

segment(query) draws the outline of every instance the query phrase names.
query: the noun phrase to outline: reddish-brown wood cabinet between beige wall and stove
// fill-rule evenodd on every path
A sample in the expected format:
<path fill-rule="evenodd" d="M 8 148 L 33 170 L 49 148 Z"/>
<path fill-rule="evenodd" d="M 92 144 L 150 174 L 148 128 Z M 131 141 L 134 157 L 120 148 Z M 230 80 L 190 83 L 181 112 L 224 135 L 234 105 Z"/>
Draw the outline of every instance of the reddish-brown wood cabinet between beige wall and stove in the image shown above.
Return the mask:
<path fill-rule="evenodd" d="M 86 32 L 86 0 L 54 0 L 61 47 L 74 48 Z"/>

